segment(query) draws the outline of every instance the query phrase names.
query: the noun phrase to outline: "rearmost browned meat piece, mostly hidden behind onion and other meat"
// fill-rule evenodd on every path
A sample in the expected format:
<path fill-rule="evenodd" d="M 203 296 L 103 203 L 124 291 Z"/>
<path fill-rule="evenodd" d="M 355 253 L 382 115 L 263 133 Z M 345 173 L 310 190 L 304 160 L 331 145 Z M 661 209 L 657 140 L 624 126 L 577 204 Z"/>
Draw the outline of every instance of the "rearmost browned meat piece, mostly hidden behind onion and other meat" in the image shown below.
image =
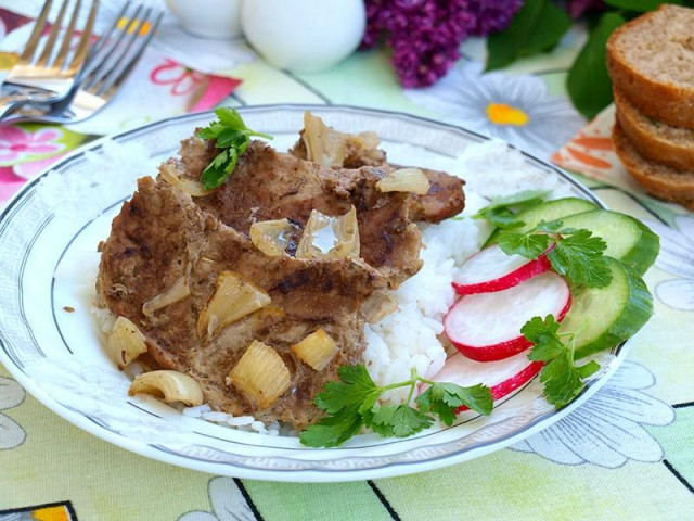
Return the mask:
<path fill-rule="evenodd" d="M 301 130 L 301 136 L 304 130 Z M 340 132 L 335 132 L 340 134 Z M 348 135 L 345 136 L 347 139 Z M 362 166 L 385 166 L 386 154 L 378 149 L 368 149 L 351 145 L 347 141 L 348 153 L 342 165 L 345 168 L 360 168 Z M 290 153 L 300 160 L 307 158 L 306 143 L 303 137 L 294 144 Z M 391 165 L 395 168 L 399 166 Z M 410 195 L 410 218 L 415 221 L 440 223 L 444 219 L 460 214 L 465 207 L 463 193 L 464 181 L 450 174 L 438 170 L 422 169 L 432 183 L 428 193 L 424 195 Z"/>

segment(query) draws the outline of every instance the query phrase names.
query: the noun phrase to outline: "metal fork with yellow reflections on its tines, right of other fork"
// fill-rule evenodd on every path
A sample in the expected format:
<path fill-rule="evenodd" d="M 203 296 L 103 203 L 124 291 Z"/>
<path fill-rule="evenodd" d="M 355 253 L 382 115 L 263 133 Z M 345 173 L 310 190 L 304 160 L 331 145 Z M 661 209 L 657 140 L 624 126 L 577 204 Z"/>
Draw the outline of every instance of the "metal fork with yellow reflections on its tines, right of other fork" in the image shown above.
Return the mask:
<path fill-rule="evenodd" d="M 137 65 L 164 16 L 163 12 L 151 8 L 144 10 L 143 5 L 137 7 L 131 15 L 124 16 L 129 7 L 130 2 L 127 2 L 100 39 L 93 58 L 90 58 L 69 96 L 50 104 L 25 104 L 2 119 L 3 123 L 77 123 L 108 103 Z"/>

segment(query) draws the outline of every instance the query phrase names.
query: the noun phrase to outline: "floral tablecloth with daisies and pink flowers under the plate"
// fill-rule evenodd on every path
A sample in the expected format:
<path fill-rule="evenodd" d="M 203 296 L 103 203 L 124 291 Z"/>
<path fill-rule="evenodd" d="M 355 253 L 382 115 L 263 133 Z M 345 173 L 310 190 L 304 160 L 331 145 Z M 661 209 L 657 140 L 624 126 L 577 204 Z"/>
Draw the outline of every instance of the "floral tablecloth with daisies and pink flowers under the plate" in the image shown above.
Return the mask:
<path fill-rule="evenodd" d="M 0 1 L 0 67 L 12 63 L 40 3 Z M 500 137 L 583 173 L 579 179 L 609 207 L 644 220 L 661 239 L 646 275 L 655 317 L 595 396 L 509 449 L 415 475 L 305 485 L 167 466 L 76 429 L 0 367 L 0 521 L 694 520 L 694 217 L 648 198 L 626 175 L 609 140 L 611 109 L 586 126 L 566 100 L 566 69 L 581 38 L 576 30 L 551 54 L 486 75 L 484 42 L 472 40 L 438 85 L 403 90 L 381 50 L 296 75 L 267 65 L 242 40 L 193 41 L 226 49 L 197 65 L 206 73 L 194 71 L 195 49 L 176 45 L 190 37 L 167 20 L 159 43 L 99 116 L 63 127 L 0 126 L 1 204 L 80 144 L 160 117 L 221 103 L 402 111 Z"/>

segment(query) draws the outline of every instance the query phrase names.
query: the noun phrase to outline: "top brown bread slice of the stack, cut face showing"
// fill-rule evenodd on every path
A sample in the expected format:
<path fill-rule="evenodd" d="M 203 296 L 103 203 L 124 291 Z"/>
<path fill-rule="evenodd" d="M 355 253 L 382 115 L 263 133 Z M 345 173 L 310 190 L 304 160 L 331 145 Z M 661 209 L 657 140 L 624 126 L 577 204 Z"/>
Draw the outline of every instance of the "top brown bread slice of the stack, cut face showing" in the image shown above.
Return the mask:
<path fill-rule="evenodd" d="M 660 5 L 607 40 L 613 84 L 646 116 L 694 128 L 694 9 Z"/>

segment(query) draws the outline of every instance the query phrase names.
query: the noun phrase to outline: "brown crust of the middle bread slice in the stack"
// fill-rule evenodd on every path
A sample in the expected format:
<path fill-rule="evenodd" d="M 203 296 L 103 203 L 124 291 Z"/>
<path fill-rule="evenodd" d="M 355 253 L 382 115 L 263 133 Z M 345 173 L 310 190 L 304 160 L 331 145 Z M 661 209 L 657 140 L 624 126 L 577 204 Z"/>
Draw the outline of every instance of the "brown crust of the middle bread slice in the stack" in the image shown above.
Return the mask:
<path fill-rule="evenodd" d="M 644 127 L 635 114 L 637 109 L 630 106 L 618 89 L 615 89 L 615 106 L 621 130 L 642 156 L 672 168 L 694 170 L 694 130 L 691 130 L 691 143 L 682 145 Z"/>

